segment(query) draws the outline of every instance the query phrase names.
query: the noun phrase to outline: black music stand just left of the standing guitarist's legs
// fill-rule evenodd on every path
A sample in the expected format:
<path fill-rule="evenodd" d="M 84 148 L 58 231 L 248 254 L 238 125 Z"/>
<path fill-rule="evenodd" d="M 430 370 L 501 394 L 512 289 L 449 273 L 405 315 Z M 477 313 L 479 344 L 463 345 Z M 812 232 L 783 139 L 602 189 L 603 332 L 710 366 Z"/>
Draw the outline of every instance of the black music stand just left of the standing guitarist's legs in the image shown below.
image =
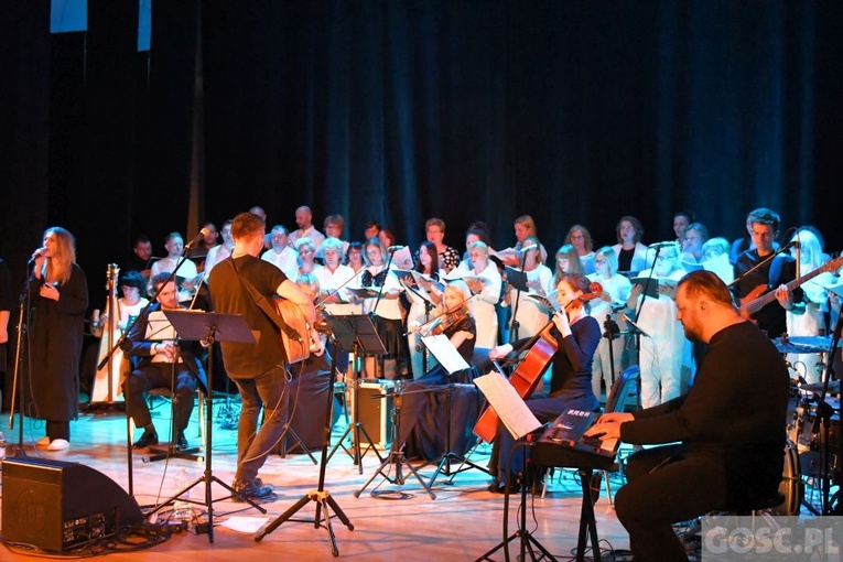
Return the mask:
<path fill-rule="evenodd" d="M 251 329 L 249 328 L 249 325 L 246 323 L 246 320 L 242 317 L 241 314 L 219 314 L 214 312 L 199 312 L 199 311 L 188 311 L 188 310 L 176 310 L 176 311 L 164 311 L 164 315 L 170 321 L 170 323 L 175 328 L 176 333 L 182 339 L 185 341 L 204 341 L 207 343 L 208 348 L 213 348 L 214 342 L 239 342 L 244 344 L 253 344 L 256 342 L 255 336 L 251 333 Z M 214 363 L 208 363 L 208 380 L 214 380 Z M 205 501 L 195 501 L 193 499 L 184 499 L 183 501 L 187 501 L 190 504 L 196 504 L 205 506 L 208 510 L 208 542 L 214 542 L 214 501 L 220 501 L 226 498 L 220 498 L 218 500 L 212 499 L 210 495 L 210 484 L 216 482 L 224 488 L 226 488 L 228 491 L 231 493 L 231 495 L 236 495 L 237 491 L 226 484 L 225 482 L 220 480 L 214 474 L 210 469 L 210 444 L 212 444 L 212 430 L 214 428 L 214 424 L 212 423 L 210 419 L 213 418 L 213 411 L 212 408 L 214 406 L 214 402 L 212 400 L 210 392 L 207 388 L 205 388 L 205 404 L 206 404 L 206 413 L 205 413 L 205 435 L 206 435 L 206 451 L 205 451 L 205 472 L 202 476 L 196 478 L 193 483 L 191 483 L 186 488 L 183 490 L 177 491 L 173 497 L 165 499 L 163 502 L 159 504 L 149 515 L 155 514 L 160 511 L 164 506 L 170 505 L 171 502 L 175 501 L 176 499 L 181 498 L 187 490 L 191 488 L 197 486 L 201 483 L 205 483 Z M 229 496 L 230 497 L 230 496 Z M 267 510 L 262 507 L 260 507 L 258 504 L 252 501 L 251 499 L 244 497 L 244 500 L 248 502 L 251 507 L 256 508 L 261 514 L 266 514 Z"/>

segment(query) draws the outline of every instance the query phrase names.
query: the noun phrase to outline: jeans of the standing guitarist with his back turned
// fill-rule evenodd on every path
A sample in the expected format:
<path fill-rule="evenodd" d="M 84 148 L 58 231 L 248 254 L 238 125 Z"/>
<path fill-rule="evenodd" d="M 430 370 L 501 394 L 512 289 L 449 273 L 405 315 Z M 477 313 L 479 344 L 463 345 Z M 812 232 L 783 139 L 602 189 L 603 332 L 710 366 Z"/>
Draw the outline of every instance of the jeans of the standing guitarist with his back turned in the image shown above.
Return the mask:
<path fill-rule="evenodd" d="M 287 374 L 283 366 L 275 366 L 253 379 L 233 380 L 240 390 L 242 400 L 237 426 L 235 478 L 249 483 L 258 476 L 258 471 L 281 440 L 287 425 Z M 261 408 L 264 409 L 263 424 L 258 430 Z"/>

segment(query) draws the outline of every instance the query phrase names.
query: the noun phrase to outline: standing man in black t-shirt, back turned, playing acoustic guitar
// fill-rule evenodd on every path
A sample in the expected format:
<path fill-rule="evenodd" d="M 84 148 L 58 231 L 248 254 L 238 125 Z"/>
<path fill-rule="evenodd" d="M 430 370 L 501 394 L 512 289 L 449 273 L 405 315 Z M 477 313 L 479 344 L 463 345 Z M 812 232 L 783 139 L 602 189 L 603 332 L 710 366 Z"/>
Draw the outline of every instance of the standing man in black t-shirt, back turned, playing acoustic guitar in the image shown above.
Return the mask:
<path fill-rule="evenodd" d="M 269 496 L 273 487 L 258 478 L 267 455 L 281 440 L 288 421 L 287 370 L 279 331 L 257 304 L 245 283 L 260 296 L 282 296 L 298 304 L 313 326 L 316 310 L 310 298 L 275 266 L 259 258 L 263 250 L 266 226 L 256 215 L 240 213 L 231 223 L 234 250 L 230 259 L 217 263 L 208 277 L 214 310 L 241 314 L 257 342 L 221 342 L 223 363 L 240 390 L 242 409 L 237 428 L 237 473 L 234 489 L 245 498 Z M 312 341 L 320 346 L 318 334 L 311 328 Z M 317 349 L 321 352 L 321 349 Z M 264 409 L 263 424 L 258 417 Z M 235 499 L 238 499 L 235 497 Z"/>

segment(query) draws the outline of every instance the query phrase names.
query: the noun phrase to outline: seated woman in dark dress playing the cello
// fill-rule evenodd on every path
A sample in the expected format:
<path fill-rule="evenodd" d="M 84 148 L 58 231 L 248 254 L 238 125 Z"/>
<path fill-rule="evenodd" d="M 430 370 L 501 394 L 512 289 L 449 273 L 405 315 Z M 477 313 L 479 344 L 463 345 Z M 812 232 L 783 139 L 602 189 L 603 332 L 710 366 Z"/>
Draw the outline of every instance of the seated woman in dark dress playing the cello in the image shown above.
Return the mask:
<path fill-rule="evenodd" d="M 550 395 L 527 401 L 527 407 L 541 422 L 549 422 L 569 408 L 596 411 L 599 402 L 592 391 L 592 360 L 601 339 L 601 326 L 588 316 L 584 301 L 593 293 L 587 293 L 588 284 L 581 274 L 562 274 L 556 284 L 556 302 L 563 312 L 553 314 L 550 336 L 555 339 L 556 352 L 551 358 L 552 375 Z M 489 359 L 498 359 L 514 348 L 529 348 L 536 339 L 519 341 L 495 347 L 489 352 Z M 515 479 L 523 467 L 525 448 L 511 451 L 515 443 L 512 435 L 504 430 L 499 432 L 499 456 L 497 477 L 489 485 L 489 491 L 502 493 L 507 488 L 517 490 L 520 482 Z M 506 480 L 509 467 L 510 482 Z"/>

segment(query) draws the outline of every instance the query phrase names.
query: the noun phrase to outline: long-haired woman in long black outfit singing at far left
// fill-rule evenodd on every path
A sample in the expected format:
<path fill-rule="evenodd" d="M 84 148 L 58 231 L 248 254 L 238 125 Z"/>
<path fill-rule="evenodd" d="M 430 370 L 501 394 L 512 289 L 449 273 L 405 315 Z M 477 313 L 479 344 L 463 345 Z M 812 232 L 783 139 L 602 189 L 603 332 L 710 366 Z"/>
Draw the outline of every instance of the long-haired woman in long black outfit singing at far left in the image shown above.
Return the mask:
<path fill-rule="evenodd" d="M 31 413 L 46 420 L 46 436 L 36 445 L 64 451 L 69 446 L 71 420 L 79 407 L 79 356 L 88 283 L 76 264 L 73 235 L 64 228 L 47 228 L 44 248 L 33 258 L 29 287 Z"/>

